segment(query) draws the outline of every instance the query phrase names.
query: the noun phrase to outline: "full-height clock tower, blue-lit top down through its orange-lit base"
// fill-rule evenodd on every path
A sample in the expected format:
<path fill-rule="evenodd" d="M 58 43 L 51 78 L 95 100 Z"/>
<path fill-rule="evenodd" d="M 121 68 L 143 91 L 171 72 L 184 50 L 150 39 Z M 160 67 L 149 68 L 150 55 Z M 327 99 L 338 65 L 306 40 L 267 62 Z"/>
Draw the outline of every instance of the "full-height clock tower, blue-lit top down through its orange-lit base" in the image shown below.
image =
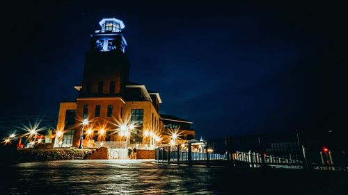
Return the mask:
<path fill-rule="evenodd" d="M 127 42 L 122 33 L 125 24 L 116 18 L 104 18 L 99 24 L 100 30 L 90 35 L 90 48 L 85 53 L 76 118 L 77 121 L 93 121 L 93 128 L 90 126 L 93 136 L 90 139 L 109 141 L 118 139 L 115 133 L 111 133 L 109 122 L 122 118 L 122 109 L 125 108 L 122 97 L 129 83 L 129 61 Z M 100 136 L 100 130 L 105 135 Z M 74 131 L 73 146 L 79 144 L 79 137 L 81 131 L 78 128 Z"/>

